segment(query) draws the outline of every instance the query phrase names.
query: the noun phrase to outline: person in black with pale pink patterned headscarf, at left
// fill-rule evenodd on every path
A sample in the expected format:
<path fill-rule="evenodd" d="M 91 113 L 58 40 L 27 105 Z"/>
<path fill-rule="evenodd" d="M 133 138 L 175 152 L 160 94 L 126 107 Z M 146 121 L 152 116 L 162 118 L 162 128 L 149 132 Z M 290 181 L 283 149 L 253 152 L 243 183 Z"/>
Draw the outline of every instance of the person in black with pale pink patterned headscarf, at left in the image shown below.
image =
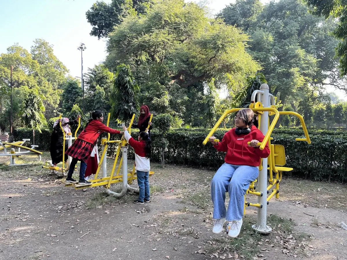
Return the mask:
<path fill-rule="evenodd" d="M 71 132 L 70 125 L 77 125 L 78 124 L 78 118 L 81 116 L 78 116 L 74 121 L 70 121 L 67 117 L 63 117 L 62 119 L 57 119 L 53 124 L 53 132 L 51 135 L 51 146 L 50 146 L 50 152 L 51 152 L 51 158 L 52 158 L 52 165 L 56 166 L 59 162 L 63 160 L 63 134 L 60 129 L 59 122 L 61 121 L 61 126 L 64 130 L 65 136 L 68 136 L 68 133 Z M 65 150 L 67 150 L 68 143 L 65 142 Z M 67 157 L 66 157 L 67 159 Z M 66 160 L 67 161 L 67 160 Z"/>

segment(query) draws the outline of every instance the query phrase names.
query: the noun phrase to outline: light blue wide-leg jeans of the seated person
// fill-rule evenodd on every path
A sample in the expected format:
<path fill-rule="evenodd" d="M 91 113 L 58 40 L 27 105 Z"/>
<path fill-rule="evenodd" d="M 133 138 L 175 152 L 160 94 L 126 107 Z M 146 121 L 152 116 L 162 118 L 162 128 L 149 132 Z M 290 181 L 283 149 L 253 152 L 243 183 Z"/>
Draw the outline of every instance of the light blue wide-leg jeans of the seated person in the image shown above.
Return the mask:
<path fill-rule="evenodd" d="M 227 221 L 242 219 L 244 195 L 258 174 L 259 168 L 255 166 L 223 163 L 211 182 L 213 219 L 226 218 Z M 226 192 L 229 192 L 230 198 L 228 210 L 225 208 Z"/>

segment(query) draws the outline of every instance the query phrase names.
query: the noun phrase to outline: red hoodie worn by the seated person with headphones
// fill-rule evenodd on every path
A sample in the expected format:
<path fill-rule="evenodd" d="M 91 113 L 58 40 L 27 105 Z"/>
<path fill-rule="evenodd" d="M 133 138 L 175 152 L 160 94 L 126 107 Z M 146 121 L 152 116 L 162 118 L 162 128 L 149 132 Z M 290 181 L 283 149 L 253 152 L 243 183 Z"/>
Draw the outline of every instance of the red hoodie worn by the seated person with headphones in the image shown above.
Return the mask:
<path fill-rule="evenodd" d="M 255 126 L 251 127 L 251 133 L 247 135 L 235 134 L 232 128 L 223 136 L 222 142 L 214 145 L 214 148 L 220 152 L 227 152 L 224 161 L 232 165 L 259 166 L 260 158 L 267 158 L 270 154 L 269 145 L 266 144 L 264 150 L 249 147 L 248 142 L 258 140 L 262 142 L 264 135 Z"/>

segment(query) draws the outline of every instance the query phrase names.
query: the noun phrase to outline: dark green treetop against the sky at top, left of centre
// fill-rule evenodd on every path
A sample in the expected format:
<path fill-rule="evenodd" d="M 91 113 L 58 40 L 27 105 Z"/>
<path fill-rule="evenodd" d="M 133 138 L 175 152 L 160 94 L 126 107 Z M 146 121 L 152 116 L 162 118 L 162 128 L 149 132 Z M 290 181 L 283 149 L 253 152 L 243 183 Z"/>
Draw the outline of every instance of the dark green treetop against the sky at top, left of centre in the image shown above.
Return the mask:
<path fill-rule="evenodd" d="M 96 1 L 86 12 L 88 23 L 93 26 L 90 35 L 106 37 L 127 15 L 145 14 L 150 5 L 150 0 L 112 0 L 109 4 Z"/>

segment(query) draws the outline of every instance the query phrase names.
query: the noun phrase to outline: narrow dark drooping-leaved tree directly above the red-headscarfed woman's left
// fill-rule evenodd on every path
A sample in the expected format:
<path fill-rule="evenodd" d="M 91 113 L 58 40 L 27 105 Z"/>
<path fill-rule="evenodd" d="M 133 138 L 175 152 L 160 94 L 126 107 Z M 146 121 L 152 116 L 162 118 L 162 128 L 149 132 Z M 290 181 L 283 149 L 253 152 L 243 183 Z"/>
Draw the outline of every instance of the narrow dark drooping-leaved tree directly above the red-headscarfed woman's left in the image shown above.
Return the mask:
<path fill-rule="evenodd" d="M 136 94 L 139 91 L 129 65 L 119 64 L 115 74 L 115 85 L 112 89 L 112 116 L 128 123 L 133 114 L 139 111 Z"/>

